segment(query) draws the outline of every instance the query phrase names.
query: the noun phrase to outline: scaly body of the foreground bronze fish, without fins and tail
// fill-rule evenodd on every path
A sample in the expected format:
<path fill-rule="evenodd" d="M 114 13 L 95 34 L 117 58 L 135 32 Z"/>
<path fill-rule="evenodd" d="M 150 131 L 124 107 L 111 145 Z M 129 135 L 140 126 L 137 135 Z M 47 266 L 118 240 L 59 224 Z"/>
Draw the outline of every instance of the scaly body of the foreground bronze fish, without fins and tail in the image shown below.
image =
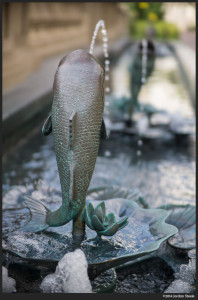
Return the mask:
<path fill-rule="evenodd" d="M 69 119 L 77 112 L 74 142 L 74 210 L 80 210 L 93 174 L 100 142 L 100 128 L 104 109 L 101 91 L 101 67 L 90 60 L 84 66 L 67 61 L 59 66 L 52 106 L 54 147 L 60 175 L 62 197 L 68 198 L 71 164 L 69 149 Z M 69 82 L 69 84 L 68 84 Z M 62 146 L 64 145 L 64 147 Z M 76 205 L 75 205 L 76 202 Z"/>

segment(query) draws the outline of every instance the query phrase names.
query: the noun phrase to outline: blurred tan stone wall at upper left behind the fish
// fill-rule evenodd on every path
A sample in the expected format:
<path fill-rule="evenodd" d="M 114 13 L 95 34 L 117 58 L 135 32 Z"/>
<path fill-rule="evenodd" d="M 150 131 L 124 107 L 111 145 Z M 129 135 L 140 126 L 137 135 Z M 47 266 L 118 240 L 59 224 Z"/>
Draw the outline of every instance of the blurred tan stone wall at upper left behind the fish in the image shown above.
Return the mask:
<path fill-rule="evenodd" d="M 46 57 L 88 49 L 100 19 L 110 41 L 126 35 L 127 16 L 120 3 L 4 3 L 3 91 L 22 82 Z"/>

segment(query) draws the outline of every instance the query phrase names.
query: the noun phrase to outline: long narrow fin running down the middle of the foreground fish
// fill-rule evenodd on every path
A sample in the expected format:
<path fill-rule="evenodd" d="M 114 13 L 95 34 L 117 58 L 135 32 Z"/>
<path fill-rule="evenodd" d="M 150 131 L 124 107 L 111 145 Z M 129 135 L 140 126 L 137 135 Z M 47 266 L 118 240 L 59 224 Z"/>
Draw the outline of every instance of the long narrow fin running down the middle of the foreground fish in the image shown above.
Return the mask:
<path fill-rule="evenodd" d="M 72 205 L 74 195 L 74 161 L 73 150 L 75 143 L 75 127 L 76 127 L 77 112 L 73 111 L 69 117 L 69 147 L 70 147 L 70 187 L 69 187 L 69 205 Z"/>

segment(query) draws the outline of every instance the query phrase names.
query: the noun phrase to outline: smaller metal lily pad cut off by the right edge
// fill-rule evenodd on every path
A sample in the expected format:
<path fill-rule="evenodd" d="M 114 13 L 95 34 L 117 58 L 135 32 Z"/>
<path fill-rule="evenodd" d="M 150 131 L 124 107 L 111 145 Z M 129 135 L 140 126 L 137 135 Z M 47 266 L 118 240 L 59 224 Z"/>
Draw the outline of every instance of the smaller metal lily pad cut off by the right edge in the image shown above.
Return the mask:
<path fill-rule="evenodd" d="M 161 206 L 162 209 L 167 209 L 170 215 L 166 222 L 178 228 L 178 233 L 168 239 L 168 244 L 172 247 L 190 250 L 195 248 L 195 206 L 173 205 Z"/>

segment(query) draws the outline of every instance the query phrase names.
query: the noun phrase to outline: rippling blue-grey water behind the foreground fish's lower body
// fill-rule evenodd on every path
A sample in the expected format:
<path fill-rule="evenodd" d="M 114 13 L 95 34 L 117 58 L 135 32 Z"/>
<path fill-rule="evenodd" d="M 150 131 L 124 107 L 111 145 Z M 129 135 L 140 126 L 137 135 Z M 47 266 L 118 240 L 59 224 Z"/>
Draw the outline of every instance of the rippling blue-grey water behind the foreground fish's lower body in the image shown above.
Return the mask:
<path fill-rule="evenodd" d="M 195 158 L 191 144 L 180 147 L 113 136 L 102 141 L 90 188 L 106 185 L 139 188 L 150 206 L 195 202 Z M 108 155 L 107 155 L 108 154 Z M 35 134 L 3 164 L 3 190 L 42 180 L 60 190 L 53 139 Z"/>

